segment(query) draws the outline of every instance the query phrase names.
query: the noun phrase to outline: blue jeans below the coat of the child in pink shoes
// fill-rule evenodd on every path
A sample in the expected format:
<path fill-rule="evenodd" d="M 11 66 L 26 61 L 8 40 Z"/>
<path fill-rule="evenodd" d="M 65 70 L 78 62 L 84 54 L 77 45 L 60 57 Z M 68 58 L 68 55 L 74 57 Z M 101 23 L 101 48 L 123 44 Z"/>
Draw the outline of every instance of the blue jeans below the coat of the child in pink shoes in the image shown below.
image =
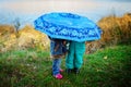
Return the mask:
<path fill-rule="evenodd" d="M 52 61 L 52 74 L 53 75 L 57 75 L 60 73 L 60 62 L 61 62 L 61 59 L 53 59 Z"/>

